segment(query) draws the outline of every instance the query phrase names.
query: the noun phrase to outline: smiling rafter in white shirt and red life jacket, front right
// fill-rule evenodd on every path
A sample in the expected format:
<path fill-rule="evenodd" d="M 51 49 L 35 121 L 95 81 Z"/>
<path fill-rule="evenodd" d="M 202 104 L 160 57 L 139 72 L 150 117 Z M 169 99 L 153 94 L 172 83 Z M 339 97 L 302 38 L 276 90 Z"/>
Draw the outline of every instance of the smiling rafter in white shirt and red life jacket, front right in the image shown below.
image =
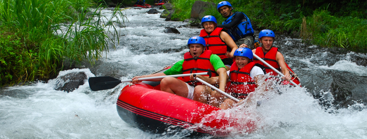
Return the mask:
<path fill-rule="evenodd" d="M 233 97 L 245 99 L 247 95 L 259 86 L 261 80 L 264 80 L 265 68 L 261 64 L 252 62 L 253 55 L 249 48 L 239 48 L 233 55 L 235 62 L 232 64 L 229 71 L 227 71 L 228 82 L 226 84 L 225 92 Z M 213 84 L 218 82 L 217 77 L 207 78 L 197 75 L 198 78 Z M 193 76 L 190 76 L 193 80 Z M 224 95 L 213 91 L 210 97 L 210 105 L 221 109 L 231 108 L 235 104 L 232 99 L 226 98 Z"/>

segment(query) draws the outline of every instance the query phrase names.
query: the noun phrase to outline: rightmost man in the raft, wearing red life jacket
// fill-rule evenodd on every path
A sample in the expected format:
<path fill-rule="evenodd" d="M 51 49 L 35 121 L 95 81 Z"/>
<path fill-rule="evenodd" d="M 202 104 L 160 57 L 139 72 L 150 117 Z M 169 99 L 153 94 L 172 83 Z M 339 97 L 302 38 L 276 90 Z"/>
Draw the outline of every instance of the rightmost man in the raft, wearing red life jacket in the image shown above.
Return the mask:
<path fill-rule="evenodd" d="M 261 30 L 259 33 L 259 42 L 261 44 L 261 47 L 253 49 L 252 52 L 263 59 L 265 62 L 269 63 L 274 68 L 279 70 L 282 74 L 285 75 L 282 78 L 289 81 L 291 80 L 290 72 L 288 71 L 283 55 L 278 51 L 278 48 L 273 47 L 274 40 L 275 33 L 272 30 Z M 260 60 L 254 59 L 254 62 L 264 65 L 266 73 L 270 73 L 270 75 L 272 76 L 278 75 L 275 71 L 270 69 Z"/>

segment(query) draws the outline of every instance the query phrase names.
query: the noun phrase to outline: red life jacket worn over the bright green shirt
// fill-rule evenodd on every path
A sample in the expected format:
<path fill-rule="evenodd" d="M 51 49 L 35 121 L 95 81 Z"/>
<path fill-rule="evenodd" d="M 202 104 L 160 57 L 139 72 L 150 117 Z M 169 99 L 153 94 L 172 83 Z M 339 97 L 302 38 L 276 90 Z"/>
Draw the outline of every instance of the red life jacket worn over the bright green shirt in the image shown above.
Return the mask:
<path fill-rule="evenodd" d="M 199 57 L 192 57 L 190 52 L 186 52 L 185 55 L 183 55 L 183 59 L 185 59 L 182 63 L 183 74 L 211 71 L 212 77 L 217 76 L 217 72 L 215 72 L 213 65 L 210 63 L 210 56 L 212 54 L 211 50 L 205 50 Z M 190 80 L 190 77 L 183 77 L 183 82 L 194 86 L 201 84 L 200 82 L 197 83 Z"/>

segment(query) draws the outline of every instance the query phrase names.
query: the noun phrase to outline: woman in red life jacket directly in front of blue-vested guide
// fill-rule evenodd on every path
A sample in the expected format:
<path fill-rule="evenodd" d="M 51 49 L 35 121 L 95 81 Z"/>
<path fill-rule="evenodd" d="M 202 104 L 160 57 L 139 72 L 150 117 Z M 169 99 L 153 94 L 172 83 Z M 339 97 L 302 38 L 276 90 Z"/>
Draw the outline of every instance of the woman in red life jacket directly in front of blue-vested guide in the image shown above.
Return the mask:
<path fill-rule="evenodd" d="M 217 19 L 214 16 L 204 16 L 201 19 L 201 25 L 204 29 L 200 31 L 200 37 L 205 39 L 207 50 L 211 50 L 213 54 L 221 57 L 228 71 L 233 63 L 233 53 L 238 48 L 236 43 L 228 33 L 222 31 L 223 28 L 217 27 Z M 227 52 L 227 47 L 229 47 L 230 53 Z"/>

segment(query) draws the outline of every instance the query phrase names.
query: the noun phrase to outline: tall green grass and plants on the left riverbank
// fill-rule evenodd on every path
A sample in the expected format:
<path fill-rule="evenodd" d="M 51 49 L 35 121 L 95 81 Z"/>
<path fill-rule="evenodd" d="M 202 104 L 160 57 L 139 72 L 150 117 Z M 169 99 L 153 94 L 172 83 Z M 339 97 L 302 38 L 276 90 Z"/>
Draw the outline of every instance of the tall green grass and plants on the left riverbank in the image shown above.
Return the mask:
<path fill-rule="evenodd" d="M 0 86 L 57 76 L 64 60 L 93 63 L 114 46 L 111 19 L 94 0 L 2 0 L 0 2 Z M 116 22 L 123 23 L 117 20 Z M 105 29 L 112 27 L 113 29 Z"/>

